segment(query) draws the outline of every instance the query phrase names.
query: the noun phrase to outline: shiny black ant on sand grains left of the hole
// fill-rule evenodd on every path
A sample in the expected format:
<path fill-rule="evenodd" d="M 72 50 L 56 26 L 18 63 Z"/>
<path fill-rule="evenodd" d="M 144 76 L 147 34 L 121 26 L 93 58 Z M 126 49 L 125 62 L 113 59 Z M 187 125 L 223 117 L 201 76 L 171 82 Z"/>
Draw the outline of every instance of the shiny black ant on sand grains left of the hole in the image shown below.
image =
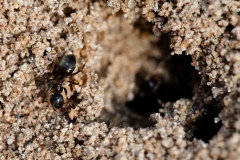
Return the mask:
<path fill-rule="evenodd" d="M 83 65 L 82 69 L 84 68 L 85 64 Z M 55 69 L 55 63 L 52 67 L 52 73 L 55 75 L 55 78 L 50 80 L 55 80 L 55 83 L 52 85 L 52 87 L 49 89 L 50 91 L 53 91 L 53 94 L 50 95 L 50 103 L 51 105 L 56 108 L 60 109 L 64 104 L 64 99 L 62 96 L 62 92 L 64 90 L 65 94 L 67 93 L 67 90 L 65 87 L 63 87 L 63 83 L 65 81 L 65 78 L 68 76 L 76 75 L 80 72 L 77 71 L 76 73 L 73 73 L 73 71 L 76 68 L 76 57 L 73 54 L 70 55 L 64 55 L 60 62 L 58 63 L 58 66 L 56 67 L 56 71 L 53 72 Z M 72 84 L 78 84 L 76 82 L 69 81 Z"/>

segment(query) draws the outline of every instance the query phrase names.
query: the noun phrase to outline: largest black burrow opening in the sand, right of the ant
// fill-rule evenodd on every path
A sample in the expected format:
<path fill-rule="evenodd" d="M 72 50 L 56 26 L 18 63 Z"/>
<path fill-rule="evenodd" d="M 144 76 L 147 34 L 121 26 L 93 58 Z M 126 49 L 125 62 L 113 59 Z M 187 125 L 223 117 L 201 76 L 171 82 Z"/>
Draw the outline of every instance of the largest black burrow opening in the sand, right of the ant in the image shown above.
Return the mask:
<path fill-rule="evenodd" d="M 159 112 L 161 108 L 159 100 L 175 102 L 180 98 L 191 99 L 195 85 L 200 82 L 197 71 L 191 66 L 190 56 L 174 55 L 166 58 L 165 61 L 164 67 L 170 75 L 168 81 L 159 80 L 156 76 L 145 79 L 141 76 L 143 74 L 136 75 L 139 89 L 134 99 L 126 104 L 131 110 L 144 117 Z"/>

